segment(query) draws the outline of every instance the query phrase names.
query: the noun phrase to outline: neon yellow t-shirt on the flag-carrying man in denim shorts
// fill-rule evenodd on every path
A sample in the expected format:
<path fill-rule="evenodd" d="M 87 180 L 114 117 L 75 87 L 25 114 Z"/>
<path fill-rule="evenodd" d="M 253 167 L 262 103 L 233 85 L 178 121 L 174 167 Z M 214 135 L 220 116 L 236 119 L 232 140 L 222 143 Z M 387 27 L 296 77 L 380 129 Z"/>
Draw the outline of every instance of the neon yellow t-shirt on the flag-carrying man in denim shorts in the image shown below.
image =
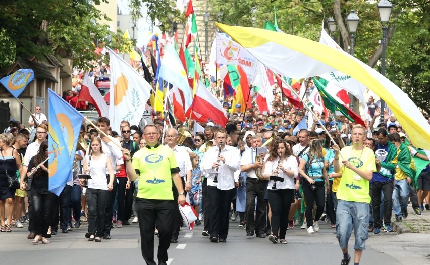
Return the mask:
<path fill-rule="evenodd" d="M 353 150 L 352 146 L 346 146 L 340 152 L 340 158 L 348 160 L 358 169 L 376 171 L 375 155 L 370 148 L 364 147 L 363 150 Z M 339 200 L 370 203 L 369 181 L 361 178 L 350 169 L 342 167 L 342 170 L 343 174 L 336 197 Z"/>

